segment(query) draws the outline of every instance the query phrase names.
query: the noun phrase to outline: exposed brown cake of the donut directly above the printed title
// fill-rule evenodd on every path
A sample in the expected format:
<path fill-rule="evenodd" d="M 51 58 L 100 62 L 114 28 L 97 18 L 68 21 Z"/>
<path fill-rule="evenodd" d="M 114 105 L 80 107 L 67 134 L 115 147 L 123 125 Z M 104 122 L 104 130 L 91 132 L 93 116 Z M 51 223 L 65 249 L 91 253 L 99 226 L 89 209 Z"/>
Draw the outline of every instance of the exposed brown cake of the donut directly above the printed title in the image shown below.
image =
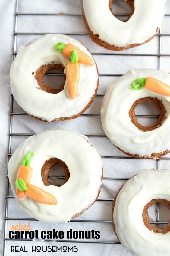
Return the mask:
<path fill-rule="evenodd" d="M 65 183 L 68 181 L 68 179 L 70 177 L 70 172 L 69 172 L 68 167 L 65 164 L 65 162 L 61 161 L 58 158 L 51 158 L 51 159 L 47 160 L 44 163 L 44 165 L 43 165 L 43 167 L 41 169 L 41 176 L 42 176 L 42 180 L 43 180 L 44 185 L 46 185 L 46 186 L 53 185 L 51 182 L 48 181 L 47 178 L 48 178 L 51 166 L 54 165 L 54 164 L 57 164 L 57 163 L 60 166 L 62 166 L 63 169 L 65 170 Z M 103 169 L 102 169 L 101 181 L 102 181 L 102 179 L 103 179 Z M 98 191 L 97 197 L 96 197 L 95 201 L 93 202 L 93 204 L 96 202 L 96 200 L 97 200 L 97 198 L 98 198 L 98 196 L 100 194 L 101 188 L 102 188 L 102 185 L 99 187 L 99 191 Z M 92 206 L 93 204 L 91 204 L 90 206 Z M 86 209 L 84 209 L 83 211 L 81 211 L 79 213 L 76 213 L 74 216 L 71 217 L 71 219 L 77 218 L 79 215 L 83 214 L 86 210 L 88 210 L 90 208 L 90 206 L 87 207 Z"/>

